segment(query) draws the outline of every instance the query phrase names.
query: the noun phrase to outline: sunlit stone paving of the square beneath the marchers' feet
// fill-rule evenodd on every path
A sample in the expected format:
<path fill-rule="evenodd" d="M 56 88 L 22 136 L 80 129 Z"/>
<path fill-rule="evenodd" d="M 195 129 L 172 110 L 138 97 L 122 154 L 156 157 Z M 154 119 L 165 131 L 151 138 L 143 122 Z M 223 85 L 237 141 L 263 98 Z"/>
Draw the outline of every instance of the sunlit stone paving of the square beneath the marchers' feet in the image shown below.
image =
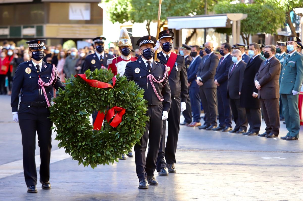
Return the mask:
<path fill-rule="evenodd" d="M 179 134 L 177 174 L 155 173 L 159 186 L 138 189 L 135 158 L 93 170 L 78 166 L 53 140 L 52 189 L 42 190 L 38 183 L 38 193 L 26 193 L 20 128 L 12 121 L 10 96 L 1 95 L 0 103 L 0 201 L 303 200 L 303 137 L 284 141 L 185 126 Z M 264 128 L 263 121 L 260 132 Z M 281 122 L 279 137 L 284 135 Z"/>

